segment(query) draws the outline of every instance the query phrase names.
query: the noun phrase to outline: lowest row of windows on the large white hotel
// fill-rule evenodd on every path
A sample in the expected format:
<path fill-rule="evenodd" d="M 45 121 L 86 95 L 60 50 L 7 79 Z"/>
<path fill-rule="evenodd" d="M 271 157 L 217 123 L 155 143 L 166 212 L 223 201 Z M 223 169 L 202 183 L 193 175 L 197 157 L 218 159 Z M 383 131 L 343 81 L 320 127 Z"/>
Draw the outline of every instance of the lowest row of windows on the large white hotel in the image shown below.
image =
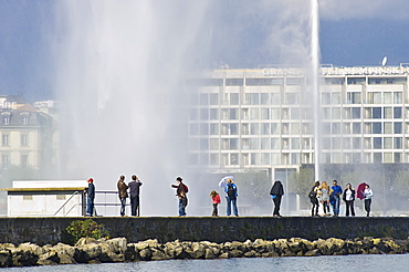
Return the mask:
<path fill-rule="evenodd" d="M 409 154 L 405 154 L 409 161 Z M 310 153 L 231 153 L 231 154 L 190 154 L 191 165 L 213 166 L 271 166 L 312 164 Z M 402 153 L 323 153 L 323 164 L 391 164 L 403 163 Z"/>

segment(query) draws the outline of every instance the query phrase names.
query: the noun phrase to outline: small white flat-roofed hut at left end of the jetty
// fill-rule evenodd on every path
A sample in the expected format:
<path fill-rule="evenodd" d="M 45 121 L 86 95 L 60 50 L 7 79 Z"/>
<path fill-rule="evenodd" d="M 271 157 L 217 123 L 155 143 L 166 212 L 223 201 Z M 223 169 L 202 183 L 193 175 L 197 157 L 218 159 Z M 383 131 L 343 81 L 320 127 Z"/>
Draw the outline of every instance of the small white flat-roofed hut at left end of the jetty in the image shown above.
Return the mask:
<path fill-rule="evenodd" d="M 8 196 L 9 217 L 82 217 L 85 180 L 17 180 L 1 189 Z"/>

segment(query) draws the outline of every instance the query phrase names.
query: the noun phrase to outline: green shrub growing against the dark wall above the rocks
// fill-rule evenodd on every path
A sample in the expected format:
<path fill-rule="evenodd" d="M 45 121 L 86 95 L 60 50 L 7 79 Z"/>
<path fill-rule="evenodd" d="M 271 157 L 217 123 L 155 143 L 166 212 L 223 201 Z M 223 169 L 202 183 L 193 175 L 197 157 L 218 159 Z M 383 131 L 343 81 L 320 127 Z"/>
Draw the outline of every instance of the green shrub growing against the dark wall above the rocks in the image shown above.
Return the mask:
<path fill-rule="evenodd" d="M 104 224 L 97 224 L 92 219 L 86 220 L 75 220 L 72 221 L 69 227 L 66 227 L 66 232 L 74 237 L 77 242 L 80 238 L 90 237 L 95 239 L 101 239 L 103 237 L 109 237 L 109 232 L 104 229 Z"/>

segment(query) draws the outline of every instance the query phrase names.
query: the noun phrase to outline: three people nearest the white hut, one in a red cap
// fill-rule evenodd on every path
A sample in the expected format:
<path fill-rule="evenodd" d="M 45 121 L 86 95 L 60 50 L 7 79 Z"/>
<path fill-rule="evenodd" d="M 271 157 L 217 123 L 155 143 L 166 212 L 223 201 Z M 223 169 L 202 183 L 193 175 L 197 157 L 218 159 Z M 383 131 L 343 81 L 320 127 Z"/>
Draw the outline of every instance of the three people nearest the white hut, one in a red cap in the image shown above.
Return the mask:
<path fill-rule="evenodd" d="M 94 199 L 95 199 L 95 186 L 94 179 L 87 180 L 88 188 L 85 189 L 86 193 L 86 216 L 92 217 L 95 212 Z M 126 199 L 130 196 L 130 215 L 133 217 L 139 216 L 139 187 L 143 182 L 136 175 L 132 176 L 132 181 L 128 185 L 125 184 L 125 176 L 120 176 L 117 182 L 118 196 L 120 201 L 120 216 L 125 217 Z M 128 193 L 129 189 L 129 193 Z"/>

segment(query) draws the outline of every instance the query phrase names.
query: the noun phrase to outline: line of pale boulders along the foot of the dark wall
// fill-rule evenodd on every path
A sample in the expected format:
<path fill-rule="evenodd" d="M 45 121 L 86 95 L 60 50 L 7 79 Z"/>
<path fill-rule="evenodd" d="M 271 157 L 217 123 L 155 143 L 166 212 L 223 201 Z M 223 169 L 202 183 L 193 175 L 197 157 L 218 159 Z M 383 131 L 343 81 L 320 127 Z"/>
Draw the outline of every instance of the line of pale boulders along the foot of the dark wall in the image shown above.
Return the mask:
<path fill-rule="evenodd" d="M 228 259 L 269 257 L 315 257 L 346 254 L 400 254 L 409 252 L 409 240 L 371 238 L 342 240 L 329 238 L 308 241 L 301 238 L 245 242 L 182 242 L 159 243 L 146 240 L 127 243 L 125 238 L 95 240 L 82 238 L 72 247 L 64 243 L 43 247 L 27 242 L 15 247 L 0 244 L 0 266 L 55 265 L 102 262 L 135 262 L 169 259 Z"/>

